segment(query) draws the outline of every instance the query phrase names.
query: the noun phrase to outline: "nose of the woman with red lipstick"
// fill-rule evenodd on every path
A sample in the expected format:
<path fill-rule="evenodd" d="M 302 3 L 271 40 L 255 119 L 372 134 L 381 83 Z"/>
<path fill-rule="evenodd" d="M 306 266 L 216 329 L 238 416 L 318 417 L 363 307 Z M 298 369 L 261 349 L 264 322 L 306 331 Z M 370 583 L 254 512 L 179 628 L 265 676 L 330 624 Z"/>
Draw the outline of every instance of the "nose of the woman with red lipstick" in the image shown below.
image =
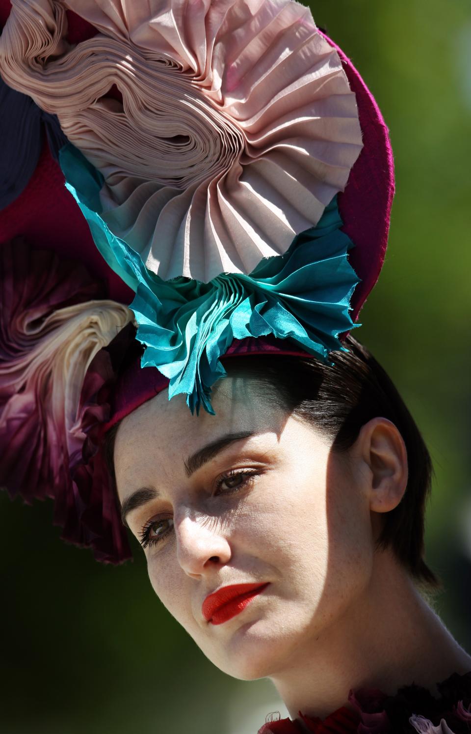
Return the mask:
<path fill-rule="evenodd" d="M 177 557 L 180 566 L 193 578 L 222 566 L 231 558 L 231 547 L 218 520 L 186 515 L 175 522 Z"/>

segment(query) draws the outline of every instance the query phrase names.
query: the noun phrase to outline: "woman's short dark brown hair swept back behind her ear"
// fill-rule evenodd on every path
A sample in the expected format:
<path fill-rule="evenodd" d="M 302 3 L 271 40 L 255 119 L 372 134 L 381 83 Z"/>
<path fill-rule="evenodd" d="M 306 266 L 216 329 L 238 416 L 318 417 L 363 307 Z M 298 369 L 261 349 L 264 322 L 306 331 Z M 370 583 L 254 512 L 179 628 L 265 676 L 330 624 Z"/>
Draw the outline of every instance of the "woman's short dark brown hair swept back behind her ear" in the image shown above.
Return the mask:
<path fill-rule="evenodd" d="M 440 581 L 423 559 L 424 515 L 432 476 L 429 451 L 377 360 L 351 335 L 344 346 L 349 351 L 331 352 L 329 363 L 287 355 L 245 355 L 222 361 L 229 376 L 256 379 L 267 388 L 264 393 L 269 399 L 324 432 L 333 441 L 334 451 L 348 451 L 371 418 L 381 416 L 395 424 L 407 449 L 409 476 L 401 502 L 385 513 L 377 545 L 392 548 L 415 581 L 438 589 Z M 112 475 L 117 428 L 114 426 L 105 438 Z"/>

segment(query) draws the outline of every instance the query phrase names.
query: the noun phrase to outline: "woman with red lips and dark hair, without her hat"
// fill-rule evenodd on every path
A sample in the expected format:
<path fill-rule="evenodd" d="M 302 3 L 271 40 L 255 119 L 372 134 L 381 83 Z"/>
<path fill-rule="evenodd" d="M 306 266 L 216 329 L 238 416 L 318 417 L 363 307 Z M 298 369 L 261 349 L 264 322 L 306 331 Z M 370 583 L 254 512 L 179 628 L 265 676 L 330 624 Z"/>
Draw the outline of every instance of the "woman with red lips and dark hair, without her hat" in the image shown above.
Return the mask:
<path fill-rule="evenodd" d="M 224 360 L 215 416 L 146 393 L 107 436 L 122 516 L 209 660 L 275 684 L 296 723 L 262 732 L 466 731 L 450 688 L 469 697 L 471 658 L 423 593 L 429 454 L 382 368 L 346 344 L 333 366 Z"/>

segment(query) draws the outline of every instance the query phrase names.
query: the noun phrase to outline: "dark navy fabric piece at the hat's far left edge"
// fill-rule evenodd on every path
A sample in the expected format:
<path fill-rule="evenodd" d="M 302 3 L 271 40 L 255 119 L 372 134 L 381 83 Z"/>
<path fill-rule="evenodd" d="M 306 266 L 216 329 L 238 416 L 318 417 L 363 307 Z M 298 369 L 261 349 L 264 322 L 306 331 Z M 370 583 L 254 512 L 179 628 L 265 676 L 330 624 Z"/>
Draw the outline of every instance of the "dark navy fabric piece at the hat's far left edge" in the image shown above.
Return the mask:
<path fill-rule="evenodd" d="M 16 92 L 0 77 L 0 210 L 23 191 L 37 167 L 42 149 L 42 131 L 53 159 L 67 137 L 56 115 L 42 112 L 31 97 Z"/>

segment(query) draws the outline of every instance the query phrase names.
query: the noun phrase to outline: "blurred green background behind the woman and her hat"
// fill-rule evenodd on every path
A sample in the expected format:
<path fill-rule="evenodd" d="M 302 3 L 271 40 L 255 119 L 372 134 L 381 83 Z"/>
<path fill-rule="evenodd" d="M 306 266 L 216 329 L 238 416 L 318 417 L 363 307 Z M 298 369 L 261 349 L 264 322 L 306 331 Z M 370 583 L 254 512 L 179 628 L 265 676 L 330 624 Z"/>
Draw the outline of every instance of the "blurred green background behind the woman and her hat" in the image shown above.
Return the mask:
<path fill-rule="evenodd" d="M 138 1 L 138 0 L 136 0 Z M 397 195 L 379 284 L 355 335 L 396 382 L 431 450 L 426 557 L 437 610 L 471 651 L 469 0 L 311 4 L 377 98 Z M 5 734 L 254 734 L 286 710 L 267 681 L 219 672 L 124 567 L 59 540 L 51 503 L 0 493 Z"/>

